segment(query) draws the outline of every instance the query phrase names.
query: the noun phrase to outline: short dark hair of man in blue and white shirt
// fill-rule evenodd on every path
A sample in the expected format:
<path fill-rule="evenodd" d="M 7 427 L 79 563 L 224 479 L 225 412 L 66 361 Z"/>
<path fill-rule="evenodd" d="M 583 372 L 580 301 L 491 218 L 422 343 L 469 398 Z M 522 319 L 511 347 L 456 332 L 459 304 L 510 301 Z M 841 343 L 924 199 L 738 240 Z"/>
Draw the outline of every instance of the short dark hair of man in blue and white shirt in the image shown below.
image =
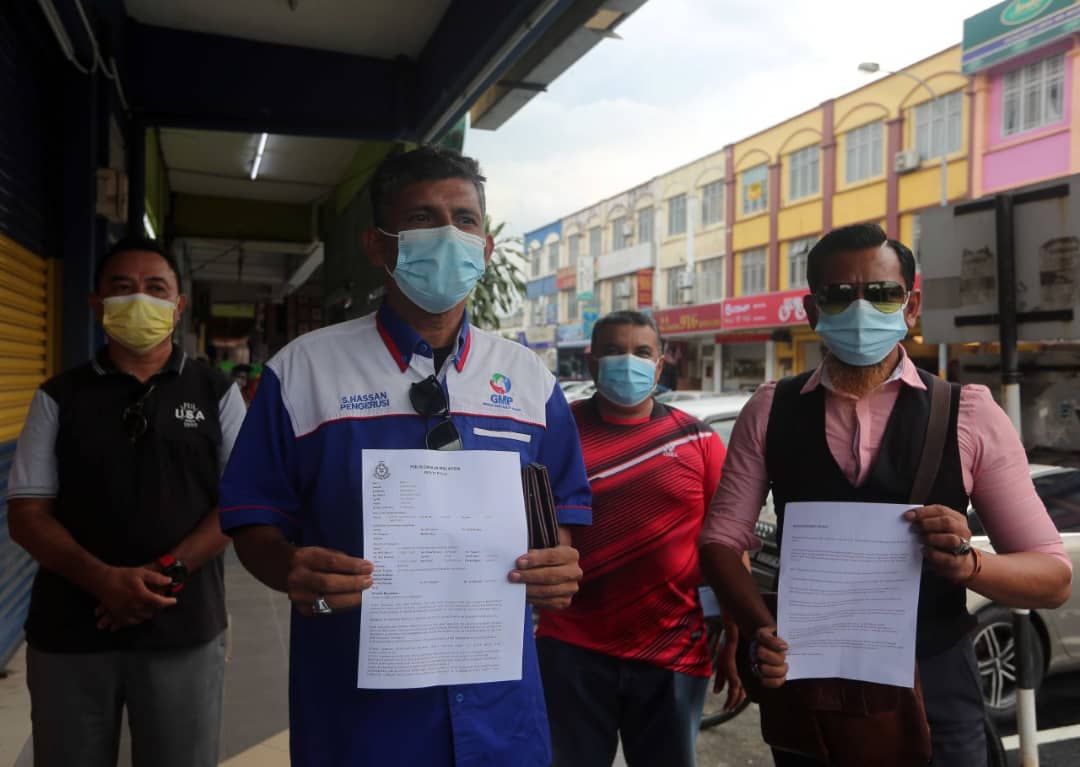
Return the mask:
<path fill-rule="evenodd" d="M 484 178 L 480 163 L 453 149 L 434 145 L 423 145 L 411 151 L 393 154 L 379 163 L 372 176 L 372 213 L 375 226 L 381 227 L 386 220 L 386 210 L 394 197 L 409 184 L 416 181 L 437 181 L 444 178 L 463 178 L 472 181 L 480 196 L 480 212 L 487 212 L 484 197 Z"/>

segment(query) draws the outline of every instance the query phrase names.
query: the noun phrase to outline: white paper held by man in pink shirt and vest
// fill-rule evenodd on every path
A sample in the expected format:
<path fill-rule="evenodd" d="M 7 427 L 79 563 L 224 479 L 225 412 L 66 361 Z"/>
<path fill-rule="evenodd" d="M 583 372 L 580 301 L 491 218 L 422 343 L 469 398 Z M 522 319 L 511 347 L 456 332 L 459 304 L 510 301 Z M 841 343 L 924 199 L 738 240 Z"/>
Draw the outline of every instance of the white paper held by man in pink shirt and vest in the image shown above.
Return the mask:
<path fill-rule="evenodd" d="M 787 678 L 915 685 L 922 549 L 902 503 L 788 503 L 777 633 Z"/>

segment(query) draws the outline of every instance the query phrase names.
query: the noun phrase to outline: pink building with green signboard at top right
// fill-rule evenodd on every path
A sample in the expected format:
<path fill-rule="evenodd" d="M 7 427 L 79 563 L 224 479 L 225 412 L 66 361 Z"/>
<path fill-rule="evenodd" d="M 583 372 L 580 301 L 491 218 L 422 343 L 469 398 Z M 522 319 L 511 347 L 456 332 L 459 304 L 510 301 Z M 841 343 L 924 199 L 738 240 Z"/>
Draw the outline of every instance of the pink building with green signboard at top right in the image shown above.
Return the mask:
<path fill-rule="evenodd" d="M 1012 0 L 964 23 L 978 198 L 1080 173 L 1080 2 Z"/>

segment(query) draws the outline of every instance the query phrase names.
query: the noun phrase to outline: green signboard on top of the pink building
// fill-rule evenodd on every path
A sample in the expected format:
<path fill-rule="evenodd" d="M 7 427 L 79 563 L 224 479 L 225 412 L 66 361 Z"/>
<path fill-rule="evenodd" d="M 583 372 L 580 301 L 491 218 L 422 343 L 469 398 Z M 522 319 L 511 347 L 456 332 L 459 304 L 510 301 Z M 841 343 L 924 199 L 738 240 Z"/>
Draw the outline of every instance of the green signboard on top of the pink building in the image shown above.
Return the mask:
<path fill-rule="evenodd" d="M 1009 0 L 963 22 L 964 75 L 1080 30 L 1080 0 Z"/>

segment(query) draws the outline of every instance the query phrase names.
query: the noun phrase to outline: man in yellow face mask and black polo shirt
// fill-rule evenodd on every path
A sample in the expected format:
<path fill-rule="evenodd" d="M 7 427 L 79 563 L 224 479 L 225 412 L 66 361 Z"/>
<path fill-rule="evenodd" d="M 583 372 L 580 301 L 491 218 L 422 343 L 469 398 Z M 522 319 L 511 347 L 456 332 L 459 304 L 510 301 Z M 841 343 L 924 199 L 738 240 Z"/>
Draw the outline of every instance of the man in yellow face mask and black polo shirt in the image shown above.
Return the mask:
<path fill-rule="evenodd" d="M 217 494 L 240 391 L 173 344 L 186 298 L 126 240 L 90 299 L 109 342 L 42 385 L 18 440 L 11 537 L 40 565 L 26 623 L 35 764 L 217 764 L 225 583 Z"/>

